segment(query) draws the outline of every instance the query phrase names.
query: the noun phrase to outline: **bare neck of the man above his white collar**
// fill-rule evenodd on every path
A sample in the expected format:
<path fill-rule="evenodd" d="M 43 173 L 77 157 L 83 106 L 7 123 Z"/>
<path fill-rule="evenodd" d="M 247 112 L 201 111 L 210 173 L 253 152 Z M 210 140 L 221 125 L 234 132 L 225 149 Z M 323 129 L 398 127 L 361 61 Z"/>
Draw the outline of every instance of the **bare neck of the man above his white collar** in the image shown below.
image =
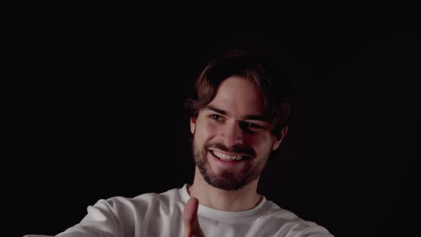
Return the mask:
<path fill-rule="evenodd" d="M 223 211 L 245 211 L 260 203 L 257 187 L 258 179 L 236 191 L 215 188 L 205 181 L 196 167 L 193 185 L 188 188 L 188 192 L 204 206 Z"/>

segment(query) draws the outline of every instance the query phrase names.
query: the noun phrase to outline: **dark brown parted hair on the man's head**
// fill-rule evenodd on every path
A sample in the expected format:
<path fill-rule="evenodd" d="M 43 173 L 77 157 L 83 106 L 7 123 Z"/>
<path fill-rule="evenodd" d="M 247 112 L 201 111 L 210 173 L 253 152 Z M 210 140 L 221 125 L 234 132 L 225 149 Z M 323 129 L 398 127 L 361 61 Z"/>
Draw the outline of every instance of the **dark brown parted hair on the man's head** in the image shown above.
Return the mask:
<path fill-rule="evenodd" d="M 193 96 L 186 101 L 190 116 L 196 117 L 213 100 L 220 83 L 230 76 L 255 81 L 263 96 L 263 114 L 278 135 L 289 123 L 293 90 L 280 64 L 263 54 L 229 51 L 211 60 L 198 77 Z"/>

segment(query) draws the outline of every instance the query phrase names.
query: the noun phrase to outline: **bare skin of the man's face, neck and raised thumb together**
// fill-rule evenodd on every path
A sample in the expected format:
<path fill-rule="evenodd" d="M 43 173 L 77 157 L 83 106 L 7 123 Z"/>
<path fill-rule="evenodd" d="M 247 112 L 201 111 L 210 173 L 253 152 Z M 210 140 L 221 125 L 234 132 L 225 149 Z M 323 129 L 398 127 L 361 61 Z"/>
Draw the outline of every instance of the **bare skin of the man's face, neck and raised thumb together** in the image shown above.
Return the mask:
<path fill-rule="evenodd" d="M 258 205 L 260 173 L 288 127 L 280 131 L 277 139 L 270 132 L 272 126 L 263 119 L 263 100 L 257 84 L 231 76 L 220 84 L 213 101 L 191 118 L 190 128 L 196 171 L 188 191 L 198 202 L 191 199 L 186 204 L 183 220 L 185 236 L 203 236 L 201 231 L 191 231 L 201 230 L 198 203 L 223 211 L 245 211 Z M 215 152 L 247 159 L 222 161 Z"/>

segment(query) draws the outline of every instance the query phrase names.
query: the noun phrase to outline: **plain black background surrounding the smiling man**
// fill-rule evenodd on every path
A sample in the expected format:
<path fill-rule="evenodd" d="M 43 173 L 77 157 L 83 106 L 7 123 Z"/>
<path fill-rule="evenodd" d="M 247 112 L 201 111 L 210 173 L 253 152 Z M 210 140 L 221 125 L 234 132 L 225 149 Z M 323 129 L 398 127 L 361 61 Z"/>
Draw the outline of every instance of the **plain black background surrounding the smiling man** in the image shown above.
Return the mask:
<path fill-rule="evenodd" d="M 4 236 L 54 235 L 99 198 L 191 183 L 183 102 L 209 56 L 241 45 L 283 56 L 298 99 L 259 192 L 335 236 L 416 234 L 410 6 L 34 7 L 6 17 L 1 49 L 33 56 L 1 64 Z"/>

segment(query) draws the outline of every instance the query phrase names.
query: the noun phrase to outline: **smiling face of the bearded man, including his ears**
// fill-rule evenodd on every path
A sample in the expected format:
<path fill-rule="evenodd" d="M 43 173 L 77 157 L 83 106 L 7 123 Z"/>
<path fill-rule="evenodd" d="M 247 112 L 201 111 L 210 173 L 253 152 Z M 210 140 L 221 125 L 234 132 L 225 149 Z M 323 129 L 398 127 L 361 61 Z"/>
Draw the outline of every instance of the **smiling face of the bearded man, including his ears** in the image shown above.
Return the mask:
<path fill-rule="evenodd" d="M 263 100 L 254 81 L 231 76 L 213 101 L 191 118 L 196 166 L 212 186 L 238 190 L 257 181 L 276 140 L 263 118 Z"/>

